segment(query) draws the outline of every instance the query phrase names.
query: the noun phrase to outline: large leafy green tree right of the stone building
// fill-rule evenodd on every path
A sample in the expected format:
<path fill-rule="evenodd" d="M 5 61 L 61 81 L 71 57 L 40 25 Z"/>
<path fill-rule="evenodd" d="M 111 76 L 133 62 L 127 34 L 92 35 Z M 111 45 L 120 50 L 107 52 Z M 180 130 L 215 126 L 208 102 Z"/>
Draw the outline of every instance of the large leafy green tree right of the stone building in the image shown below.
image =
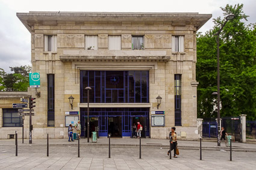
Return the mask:
<path fill-rule="evenodd" d="M 246 114 L 256 119 L 256 30 L 245 25 L 249 16 L 243 13 L 243 4 L 226 5 L 224 16 L 234 14 L 220 32 L 220 116 L 237 117 Z M 216 34 L 225 19 L 213 20 L 215 26 L 205 35 L 198 34 L 196 79 L 198 85 L 198 117 L 217 117 L 217 44 Z M 214 107 L 215 106 L 215 107 Z"/>

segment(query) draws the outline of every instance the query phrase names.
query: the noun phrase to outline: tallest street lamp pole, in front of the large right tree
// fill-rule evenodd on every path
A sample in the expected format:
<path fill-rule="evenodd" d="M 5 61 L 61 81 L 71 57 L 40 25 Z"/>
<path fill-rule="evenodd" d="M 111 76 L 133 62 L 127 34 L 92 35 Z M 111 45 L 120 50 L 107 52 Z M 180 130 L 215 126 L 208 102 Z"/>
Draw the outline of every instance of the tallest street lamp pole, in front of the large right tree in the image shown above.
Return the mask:
<path fill-rule="evenodd" d="M 219 31 L 214 34 L 217 35 L 217 124 L 218 124 L 218 136 L 217 136 L 217 145 L 220 146 L 220 74 L 219 74 L 219 34 L 222 31 L 223 27 L 226 25 L 228 20 L 234 19 L 235 15 L 229 14 L 226 16 L 226 21 L 223 23 Z"/>

